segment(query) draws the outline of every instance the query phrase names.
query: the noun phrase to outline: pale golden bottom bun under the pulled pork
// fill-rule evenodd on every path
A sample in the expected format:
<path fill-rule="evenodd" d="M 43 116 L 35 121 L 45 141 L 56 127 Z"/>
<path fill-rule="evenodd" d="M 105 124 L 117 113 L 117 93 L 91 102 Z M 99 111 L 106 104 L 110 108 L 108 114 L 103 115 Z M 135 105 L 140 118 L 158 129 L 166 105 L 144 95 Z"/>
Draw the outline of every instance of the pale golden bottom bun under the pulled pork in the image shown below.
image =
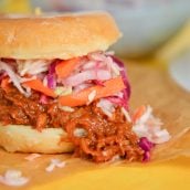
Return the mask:
<path fill-rule="evenodd" d="M 30 126 L 0 126 L 0 147 L 10 152 L 61 154 L 74 150 L 72 142 L 61 140 L 66 137 L 62 128 L 45 128 L 38 131 Z"/>

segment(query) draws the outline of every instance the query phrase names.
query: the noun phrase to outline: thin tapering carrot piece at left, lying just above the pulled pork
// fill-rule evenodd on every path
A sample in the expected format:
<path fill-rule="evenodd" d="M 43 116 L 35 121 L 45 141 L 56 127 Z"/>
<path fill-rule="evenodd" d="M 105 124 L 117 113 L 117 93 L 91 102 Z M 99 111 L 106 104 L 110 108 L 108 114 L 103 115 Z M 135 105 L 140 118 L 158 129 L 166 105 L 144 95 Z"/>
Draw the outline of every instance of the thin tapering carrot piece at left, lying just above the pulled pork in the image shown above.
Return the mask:
<path fill-rule="evenodd" d="M 46 96 L 56 97 L 56 94 L 51 88 L 44 86 L 40 80 L 27 81 L 27 82 L 23 82 L 22 85 L 28 86 L 38 92 L 41 92 L 45 94 Z"/>

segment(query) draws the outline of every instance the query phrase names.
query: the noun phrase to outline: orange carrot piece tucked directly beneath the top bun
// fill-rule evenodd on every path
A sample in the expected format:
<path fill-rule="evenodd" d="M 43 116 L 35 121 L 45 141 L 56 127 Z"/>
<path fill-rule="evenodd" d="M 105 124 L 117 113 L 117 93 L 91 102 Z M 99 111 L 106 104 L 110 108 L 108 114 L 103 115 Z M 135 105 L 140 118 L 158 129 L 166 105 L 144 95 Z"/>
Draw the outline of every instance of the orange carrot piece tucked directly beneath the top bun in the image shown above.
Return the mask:
<path fill-rule="evenodd" d="M 71 72 L 76 67 L 81 57 L 75 57 L 72 60 L 62 61 L 60 64 L 56 65 L 55 72 L 59 77 L 66 77 L 71 74 Z"/>

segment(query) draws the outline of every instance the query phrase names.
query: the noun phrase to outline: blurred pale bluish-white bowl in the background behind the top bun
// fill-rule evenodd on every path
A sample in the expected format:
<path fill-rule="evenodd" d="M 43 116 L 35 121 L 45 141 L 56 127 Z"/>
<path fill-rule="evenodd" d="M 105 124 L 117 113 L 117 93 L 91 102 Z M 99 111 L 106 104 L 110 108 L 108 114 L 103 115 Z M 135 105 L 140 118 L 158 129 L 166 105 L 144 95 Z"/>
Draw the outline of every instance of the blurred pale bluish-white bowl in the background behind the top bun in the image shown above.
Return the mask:
<path fill-rule="evenodd" d="M 137 57 L 155 51 L 184 24 L 190 17 L 190 1 L 110 12 L 123 32 L 123 39 L 113 48 L 123 56 Z"/>

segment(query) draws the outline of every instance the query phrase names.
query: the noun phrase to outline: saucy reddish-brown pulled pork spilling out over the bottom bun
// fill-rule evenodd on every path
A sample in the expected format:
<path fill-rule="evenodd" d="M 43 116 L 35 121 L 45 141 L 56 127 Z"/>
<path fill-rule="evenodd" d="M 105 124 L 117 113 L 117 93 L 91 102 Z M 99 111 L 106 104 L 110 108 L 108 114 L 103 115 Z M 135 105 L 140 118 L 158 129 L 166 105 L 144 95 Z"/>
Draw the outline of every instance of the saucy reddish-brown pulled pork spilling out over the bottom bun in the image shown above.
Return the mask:
<path fill-rule="evenodd" d="M 3 125 L 30 125 L 41 130 L 46 127 L 62 127 L 67 131 L 67 139 L 75 145 L 75 156 L 96 162 L 110 160 L 119 156 L 127 160 L 141 160 L 144 150 L 139 138 L 131 131 L 119 107 L 112 117 L 96 106 L 75 107 L 72 112 L 59 108 L 57 104 L 40 104 L 40 94 L 32 93 L 25 97 L 9 85 L 7 91 L 0 88 L 0 120 Z M 6 127 L 6 126 L 4 126 Z"/>

